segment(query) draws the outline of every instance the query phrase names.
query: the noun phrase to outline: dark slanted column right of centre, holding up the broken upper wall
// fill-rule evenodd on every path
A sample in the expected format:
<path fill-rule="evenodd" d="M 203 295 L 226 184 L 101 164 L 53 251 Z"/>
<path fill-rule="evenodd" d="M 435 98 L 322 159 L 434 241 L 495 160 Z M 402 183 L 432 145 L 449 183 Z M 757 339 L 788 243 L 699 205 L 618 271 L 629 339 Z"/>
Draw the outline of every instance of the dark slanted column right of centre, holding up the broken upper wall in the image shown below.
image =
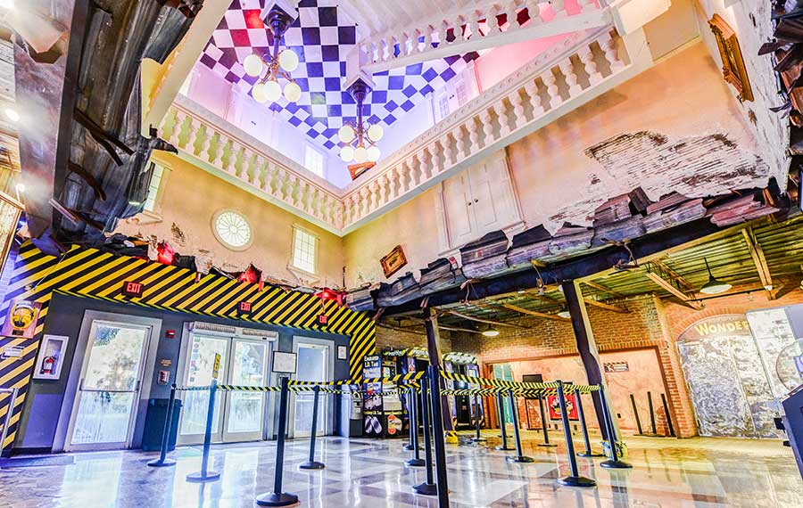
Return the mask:
<path fill-rule="evenodd" d="M 571 315 L 577 351 L 580 353 L 588 384 L 604 384 L 600 352 L 597 350 L 597 342 L 594 340 L 594 333 L 588 320 L 588 310 L 585 308 L 580 283 L 577 281 L 564 281 L 560 284 L 560 287 L 563 290 L 564 298 L 566 298 L 569 315 Z M 597 414 L 597 422 L 600 422 L 602 438 L 608 439 L 608 429 L 605 426 L 605 414 L 602 410 L 600 392 L 592 392 L 592 401 L 594 403 L 594 413 Z M 617 428 L 616 421 L 614 421 L 614 425 Z"/>

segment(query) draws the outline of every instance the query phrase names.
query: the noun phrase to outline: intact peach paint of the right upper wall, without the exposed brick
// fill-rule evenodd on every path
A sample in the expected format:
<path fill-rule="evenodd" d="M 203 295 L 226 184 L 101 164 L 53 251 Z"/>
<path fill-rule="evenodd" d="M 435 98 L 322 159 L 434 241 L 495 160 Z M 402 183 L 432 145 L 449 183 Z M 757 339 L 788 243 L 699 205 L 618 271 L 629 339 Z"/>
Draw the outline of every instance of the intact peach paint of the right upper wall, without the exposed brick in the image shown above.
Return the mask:
<path fill-rule="evenodd" d="M 584 153 L 592 144 L 640 130 L 673 140 L 727 133 L 740 148 L 755 151 L 742 118 L 705 45 L 698 42 L 679 51 L 507 148 L 526 226 L 542 224 L 562 207 L 588 198 L 586 183 L 602 170 Z M 612 185 L 607 192 L 613 197 L 631 190 Z M 427 191 L 348 234 L 347 283 L 384 281 L 379 258 L 399 243 L 410 261 L 399 274 L 411 270 L 418 277 L 418 270 L 440 250 L 435 198 L 435 190 Z"/>

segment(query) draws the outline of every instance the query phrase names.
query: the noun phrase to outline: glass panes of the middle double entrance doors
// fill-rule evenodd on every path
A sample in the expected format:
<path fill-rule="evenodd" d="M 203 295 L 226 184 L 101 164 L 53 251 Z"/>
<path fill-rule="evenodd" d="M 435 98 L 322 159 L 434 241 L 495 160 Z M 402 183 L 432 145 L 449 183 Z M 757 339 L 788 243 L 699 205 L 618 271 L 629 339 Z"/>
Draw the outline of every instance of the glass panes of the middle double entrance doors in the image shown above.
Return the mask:
<path fill-rule="evenodd" d="M 265 386 L 268 381 L 269 341 L 194 333 L 185 361 L 186 386 L 209 386 L 215 355 L 220 355 L 219 384 Z M 221 408 L 223 411 L 221 411 Z M 218 391 L 211 432 L 213 442 L 262 438 L 265 392 Z M 178 443 L 203 442 L 209 391 L 184 392 Z"/>

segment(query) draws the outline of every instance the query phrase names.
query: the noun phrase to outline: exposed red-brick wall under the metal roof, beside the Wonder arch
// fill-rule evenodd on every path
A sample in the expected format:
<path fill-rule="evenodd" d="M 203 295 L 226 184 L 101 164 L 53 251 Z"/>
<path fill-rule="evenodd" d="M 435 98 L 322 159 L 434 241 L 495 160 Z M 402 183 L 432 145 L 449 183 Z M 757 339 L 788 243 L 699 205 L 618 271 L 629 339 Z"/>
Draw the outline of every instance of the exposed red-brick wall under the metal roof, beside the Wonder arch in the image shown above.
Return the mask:
<path fill-rule="evenodd" d="M 691 402 L 683 383 L 674 340 L 669 336 L 670 326 L 662 315 L 664 309 L 660 300 L 647 295 L 627 299 L 622 305 L 630 310 L 628 314 L 598 307 L 588 308 L 597 348 L 600 352 L 656 348 L 676 431 L 681 437 L 696 435 Z M 501 329 L 500 335 L 493 339 L 475 334 L 455 334 L 452 346 L 456 351 L 478 356 L 486 374 L 490 373 L 489 367 L 495 363 L 577 355 L 570 323 L 534 318 L 526 321 L 525 326 L 526 329 L 522 330 Z M 524 407 L 520 408 L 523 412 Z"/>

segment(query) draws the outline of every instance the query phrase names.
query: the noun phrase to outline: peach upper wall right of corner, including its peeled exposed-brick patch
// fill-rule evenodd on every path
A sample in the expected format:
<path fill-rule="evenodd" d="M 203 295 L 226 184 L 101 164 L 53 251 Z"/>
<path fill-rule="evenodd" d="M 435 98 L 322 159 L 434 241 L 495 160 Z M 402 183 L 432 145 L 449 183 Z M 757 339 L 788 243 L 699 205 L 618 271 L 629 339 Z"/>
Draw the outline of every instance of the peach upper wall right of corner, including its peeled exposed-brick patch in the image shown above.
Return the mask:
<path fill-rule="evenodd" d="M 643 185 L 651 198 L 766 185 L 769 165 L 706 45 L 692 44 L 532 135 L 509 145 L 526 227 L 551 233 Z M 439 257 L 430 190 L 344 238 L 346 281 L 385 281 L 378 259 L 402 244 L 417 270 Z"/>

